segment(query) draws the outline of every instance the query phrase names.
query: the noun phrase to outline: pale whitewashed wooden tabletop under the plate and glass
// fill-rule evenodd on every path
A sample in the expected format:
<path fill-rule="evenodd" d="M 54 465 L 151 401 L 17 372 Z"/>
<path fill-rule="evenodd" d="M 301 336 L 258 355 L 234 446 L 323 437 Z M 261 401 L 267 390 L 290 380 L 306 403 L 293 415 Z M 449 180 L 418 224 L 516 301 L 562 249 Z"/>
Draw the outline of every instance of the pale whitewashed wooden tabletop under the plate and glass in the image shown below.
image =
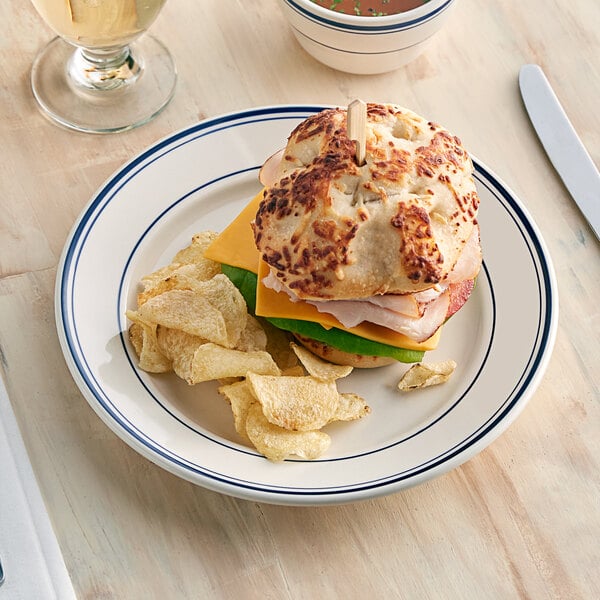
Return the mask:
<path fill-rule="evenodd" d="M 0 16 L 0 373 L 78 597 L 600 597 L 600 244 L 517 86 L 522 64 L 542 65 L 600 164 L 600 3 L 460 0 L 414 62 L 353 76 L 305 54 L 276 0 L 169 0 L 152 32 L 177 62 L 176 95 L 110 136 L 41 116 L 30 66 L 53 34 L 28 2 L 3 2 Z M 355 97 L 444 124 L 526 205 L 559 286 L 545 377 L 484 451 L 401 493 L 297 508 L 192 485 L 114 435 L 71 378 L 54 322 L 66 237 L 115 169 L 177 129 Z"/>

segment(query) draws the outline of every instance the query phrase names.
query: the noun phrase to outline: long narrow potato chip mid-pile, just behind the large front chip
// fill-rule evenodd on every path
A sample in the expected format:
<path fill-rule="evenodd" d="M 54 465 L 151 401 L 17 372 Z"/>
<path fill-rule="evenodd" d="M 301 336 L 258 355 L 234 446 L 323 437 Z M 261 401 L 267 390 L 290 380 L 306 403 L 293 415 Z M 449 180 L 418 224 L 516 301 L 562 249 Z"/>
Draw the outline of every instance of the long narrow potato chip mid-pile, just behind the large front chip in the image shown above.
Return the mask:
<path fill-rule="evenodd" d="M 226 377 L 245 377 L 249 371 L 265 375 L 279 374 L 279 368 L 268 352 L 242 352 L 207 343 L 194 352 L 191 374 L 186 381 L 195 384 Z"/>

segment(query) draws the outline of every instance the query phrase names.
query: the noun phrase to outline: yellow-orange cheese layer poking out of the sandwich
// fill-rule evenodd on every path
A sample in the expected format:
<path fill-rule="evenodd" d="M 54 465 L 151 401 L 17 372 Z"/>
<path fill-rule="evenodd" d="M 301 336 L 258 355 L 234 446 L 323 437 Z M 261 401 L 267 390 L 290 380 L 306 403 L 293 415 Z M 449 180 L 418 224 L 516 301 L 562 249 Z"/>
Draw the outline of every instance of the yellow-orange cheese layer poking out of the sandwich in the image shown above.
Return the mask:
<path fill-rule="evenodd" d="M 254 235 L 250 222 L 254 219 L 258 205 L 262 200 L 262 191 L 257 194 L 244 210 L 212 242 L 204 256 L 232 267 L 246 269 L 258 275 L 256 289 L 256 314 L 260 317 L 280 319 L 298 319 L 320 323 L 326 329 L 337 327 L 360 337 L 390 344 L 407 350 L 435 350 L 439 343 L 441 328 L 424 342 L 415 342 L 386 327 L 374 323 L 361 323 L 356 327 L 344 327 L 333 315 L 320 313 L 314 306 L 305 302 L 292 302 L 285 292 L 276 292 L 266 288 L 260 282 L 269 274 L 269 266 L 261 258 L 254 244 Z"/>

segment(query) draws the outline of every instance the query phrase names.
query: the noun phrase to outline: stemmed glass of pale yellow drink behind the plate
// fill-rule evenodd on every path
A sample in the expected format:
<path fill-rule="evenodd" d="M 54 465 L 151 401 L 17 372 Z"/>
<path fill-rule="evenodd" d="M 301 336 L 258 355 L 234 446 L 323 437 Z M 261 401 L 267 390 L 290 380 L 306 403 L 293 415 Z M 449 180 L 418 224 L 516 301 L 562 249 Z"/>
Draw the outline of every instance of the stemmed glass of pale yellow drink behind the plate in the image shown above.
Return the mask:
<path fill-rule="evenodd" d="M 32 0 L 58 34 L 33 63 L 44 114 L 79 131 L 112 133 L 155 117 L 177 72 L 165 46 L 144 32 L 165 0 Z"/>

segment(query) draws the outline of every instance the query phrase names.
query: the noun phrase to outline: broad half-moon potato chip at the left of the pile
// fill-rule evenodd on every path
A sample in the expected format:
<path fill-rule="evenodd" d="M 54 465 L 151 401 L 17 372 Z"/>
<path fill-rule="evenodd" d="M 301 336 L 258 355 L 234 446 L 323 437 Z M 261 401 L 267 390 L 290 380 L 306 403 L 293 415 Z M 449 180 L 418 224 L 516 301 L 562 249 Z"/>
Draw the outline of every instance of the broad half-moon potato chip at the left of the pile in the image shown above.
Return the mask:
<path fill-rule="evenodd" d="M 223 315 L 200 292 L 164 292 L 140 306 L 138 313 L 145 321 L 180 329 L 223 346 L 229 344 Z"/>

